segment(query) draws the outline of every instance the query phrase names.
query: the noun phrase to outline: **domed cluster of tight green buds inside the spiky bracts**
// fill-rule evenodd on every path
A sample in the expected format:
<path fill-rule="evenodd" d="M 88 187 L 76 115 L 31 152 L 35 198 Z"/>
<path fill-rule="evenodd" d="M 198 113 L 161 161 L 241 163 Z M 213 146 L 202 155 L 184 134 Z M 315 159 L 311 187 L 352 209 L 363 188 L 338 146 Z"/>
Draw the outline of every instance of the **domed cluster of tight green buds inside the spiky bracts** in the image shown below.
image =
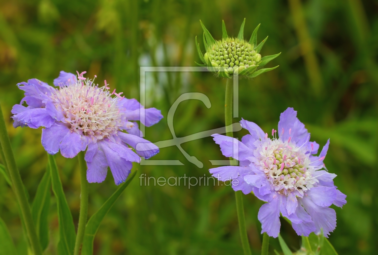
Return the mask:
<path fill-rule="evenodd" d="M 219 70 L 223 67 L 229 74 L 241 71 L 249 66 L 256 66 L 261 61 L 261 55 L 253 49 L 253 46 L 244 40 L 237 38 L 222 39 L 204 54 L 204 59 Z"/>

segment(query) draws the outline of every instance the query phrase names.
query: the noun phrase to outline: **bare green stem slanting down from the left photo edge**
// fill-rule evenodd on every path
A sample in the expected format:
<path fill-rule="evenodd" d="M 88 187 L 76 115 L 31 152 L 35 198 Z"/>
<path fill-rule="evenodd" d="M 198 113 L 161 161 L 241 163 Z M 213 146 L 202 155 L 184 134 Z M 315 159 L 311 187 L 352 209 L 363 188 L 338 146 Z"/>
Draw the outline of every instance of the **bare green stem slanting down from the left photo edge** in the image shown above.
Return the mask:
<path fill-rule="evenodd" d="M 31 216 L 30 206 L 21 180 L 20 172 L 17 169 L 16 161 L 9 140 L 8 132 L 6 130 L 5 120 L 3 117 L 2 108 L 0 105 L 0 143 L 3 149 L 6 166 L 12 180 L 13 191 L 20 205 L 20 211 L 25 221 L 26 232 L 30 241 L 31 249 L 34 255 L 42 255 L 42 250 L 39 245 L 36 227 L 34 226 L 33 217 Z"/>

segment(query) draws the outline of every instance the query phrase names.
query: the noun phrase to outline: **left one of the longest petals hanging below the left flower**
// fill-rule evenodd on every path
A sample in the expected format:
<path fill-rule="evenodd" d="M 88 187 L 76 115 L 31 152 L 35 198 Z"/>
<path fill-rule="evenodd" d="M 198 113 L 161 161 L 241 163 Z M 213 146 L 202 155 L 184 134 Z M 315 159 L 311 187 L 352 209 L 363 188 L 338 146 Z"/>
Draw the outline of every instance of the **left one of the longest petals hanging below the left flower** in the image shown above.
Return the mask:
<path fill-rule="evenodd" d="M 92 155 L 93 154 L 93 155 Z M 87 156 L 88 155 L 88 156 Z M 101 183 L 105 180 L 108 172 L 108 162 L 104 152 L 98 148 L 98 144 L 88 144 L 88 150 L 85 153 L 85 158 L 90 158 L 87 161 L 87 181 L 89 183 Z"/>

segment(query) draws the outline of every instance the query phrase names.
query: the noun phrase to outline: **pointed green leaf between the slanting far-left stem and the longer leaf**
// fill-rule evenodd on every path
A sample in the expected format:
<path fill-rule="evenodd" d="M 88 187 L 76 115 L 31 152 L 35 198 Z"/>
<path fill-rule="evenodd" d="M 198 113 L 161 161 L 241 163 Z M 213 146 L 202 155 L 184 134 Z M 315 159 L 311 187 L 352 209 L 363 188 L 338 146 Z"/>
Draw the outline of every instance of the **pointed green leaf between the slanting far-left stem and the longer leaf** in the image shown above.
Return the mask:
<path fill-rule="evenodd" d="M 46 172 L 38 185 L 37 193 L 31 207 L 31 215 L 33 216 L 42 251 L 47 248 L 49 242 L 48 214 L 50 211 L 50 188 L 50 167 L 47 165 Z"/>

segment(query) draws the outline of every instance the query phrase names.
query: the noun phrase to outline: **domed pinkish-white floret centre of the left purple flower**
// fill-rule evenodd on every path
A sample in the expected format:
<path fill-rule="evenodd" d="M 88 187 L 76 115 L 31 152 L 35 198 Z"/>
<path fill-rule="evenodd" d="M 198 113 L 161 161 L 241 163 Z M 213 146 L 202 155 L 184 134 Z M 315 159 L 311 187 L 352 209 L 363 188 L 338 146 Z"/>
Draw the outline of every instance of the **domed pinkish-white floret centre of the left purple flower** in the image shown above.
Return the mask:
<path fill-rule="evenodd" d="M 117 133 L 122 125 L 119 98 L 112 98 L 113 94 L 106 85 L 98 87 L 92 80 L 79 77 L 71 86 L 57 89 L 51 99 L 71 131 L 97 140 Z"/>

